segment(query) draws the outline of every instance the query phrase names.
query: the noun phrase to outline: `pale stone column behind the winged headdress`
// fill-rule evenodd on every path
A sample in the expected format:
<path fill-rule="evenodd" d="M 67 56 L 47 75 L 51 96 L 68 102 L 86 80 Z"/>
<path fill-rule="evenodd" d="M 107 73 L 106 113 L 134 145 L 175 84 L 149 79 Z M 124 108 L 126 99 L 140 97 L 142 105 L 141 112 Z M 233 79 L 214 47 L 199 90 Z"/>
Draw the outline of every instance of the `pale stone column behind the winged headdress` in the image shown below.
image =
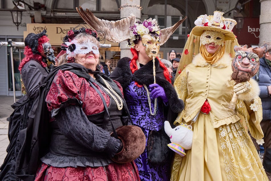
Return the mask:
<path fill-rule="evenodd" d="M 126 5 L 130 5 L 125 7 Z M 136 17 L 136 21 L 140 21 L 141 18 L 141 10 L 137 7 L 133 6 L 140 6 L 140 0 L 121 0 L 121 19 L 126 18 L 133 13 Z M 132 7 L 131 7 L 132 6 Z M 127 29 L 127 31 L 129 31 Z M 130 48 L 126 47 L 127 41 L 123 41 L 120 43 L 120 48 L 121 48 L 121 58 L 123 57 L 130 57 L 133 58 L 133 55 L 130 51 Z"/>

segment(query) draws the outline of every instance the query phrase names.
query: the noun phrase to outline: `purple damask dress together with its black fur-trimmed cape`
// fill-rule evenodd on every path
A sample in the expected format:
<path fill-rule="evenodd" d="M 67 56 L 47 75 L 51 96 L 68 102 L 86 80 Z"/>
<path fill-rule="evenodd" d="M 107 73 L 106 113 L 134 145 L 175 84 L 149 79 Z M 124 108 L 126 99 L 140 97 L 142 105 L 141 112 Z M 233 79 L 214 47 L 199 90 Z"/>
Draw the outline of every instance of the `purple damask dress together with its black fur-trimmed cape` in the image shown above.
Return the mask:
<path fill-rule="evenodd" d="M 118 61 L 117 67 L 110 75 L 111 79 L 118 81 L 123 87 L 124 98 L 127 103 L 133 123 L 142 128 L 146 142 L 150 130 L 164 129 L 164 121 L 167 120 L 169 108 L 171 112 L 181 112 L 184 108 L 182 100 L 178 99 L 177 93 L 170 82 L 164 77 L 164 70 L 160 66 L 158 59 L 155 59 L 156 83 L 163 87 L 168 102 L 166 105 L 160 97 L 157 98 L 157 111 L 154 116 L 150 114 L 147 91 L 142 85 L 153 84 L 153 62 L 150 61 L 146 65 L 140 64 L 140 69 L 133 74 L 130 69 L 131 59 L 124 57 Z M 138 83 L 137 86 L 135 82 Z M 152 112 L 154 111 L 154 99 L 150 96 Z M 171 160 L 164 165 L 153 165 L 148 162 L 147 148 L 135 160 L 138 167 L 139 176 L 142 181 L 158 181 L 170 180 L 170 164 Z"/>

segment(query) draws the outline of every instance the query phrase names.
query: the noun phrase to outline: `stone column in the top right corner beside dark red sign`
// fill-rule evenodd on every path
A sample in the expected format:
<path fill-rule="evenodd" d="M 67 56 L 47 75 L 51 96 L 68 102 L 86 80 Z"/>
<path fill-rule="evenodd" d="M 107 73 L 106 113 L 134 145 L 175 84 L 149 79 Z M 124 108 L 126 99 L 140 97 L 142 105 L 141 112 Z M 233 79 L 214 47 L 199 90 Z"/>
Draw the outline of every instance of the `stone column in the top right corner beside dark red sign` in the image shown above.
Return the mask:
<path fill-rule="evenodd" d="M 271 0 L 260 0 L 261 14 L 260 14 L 260 37 L 259 46 L 265 43 L 271 43 Z"/>

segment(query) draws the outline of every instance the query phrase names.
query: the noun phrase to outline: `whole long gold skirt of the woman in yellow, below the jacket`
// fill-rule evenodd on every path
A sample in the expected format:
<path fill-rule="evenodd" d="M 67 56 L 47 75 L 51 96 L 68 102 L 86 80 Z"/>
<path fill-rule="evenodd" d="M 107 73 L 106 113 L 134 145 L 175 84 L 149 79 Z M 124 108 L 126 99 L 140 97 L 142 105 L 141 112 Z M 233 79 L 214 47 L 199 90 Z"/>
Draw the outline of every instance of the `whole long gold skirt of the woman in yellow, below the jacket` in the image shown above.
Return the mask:
<path fill-rule="evenodd" d="M 209 114 L 194 123 L 192 149 L 175 155 L 172 181 L 268 181 L 257 150 L 237 121 L 213 128 Z"/>

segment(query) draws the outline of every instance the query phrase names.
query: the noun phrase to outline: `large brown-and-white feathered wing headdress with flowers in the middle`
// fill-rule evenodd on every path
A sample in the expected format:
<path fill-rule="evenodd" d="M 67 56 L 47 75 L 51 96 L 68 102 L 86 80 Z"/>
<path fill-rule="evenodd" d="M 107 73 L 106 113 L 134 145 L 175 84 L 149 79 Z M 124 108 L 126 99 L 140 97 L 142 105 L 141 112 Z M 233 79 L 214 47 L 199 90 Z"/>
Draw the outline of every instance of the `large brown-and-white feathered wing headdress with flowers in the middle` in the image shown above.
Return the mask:
<path fill-rule="evenodd" d="M 123 18 L 118 21 L 108 21 L 103 20 L 95 17 L 91 11 L 86 9 L 84 11 L 82 7 L 80 9 L 76 8 L 79 15 L 82 19 L 92 28 L 95 30 L 103 30 L 106 35 L 106 39 L 110 42 L 120 43 L 125 40 L 128 41 L 128 45 L 133 47 L 133 41 L 136 39 L 140 39 L 140 33 L 137 33 L 137 29 L 135 25 L 143 25 L 142 27 L 146 30 L 145 34 L 154 34 L 160 37 L 160 45 L 163 45 L 169 37 L 174 33 L 174 31 L 182 24 L 182 22 L 187 18 L 184 17 L 182 20 L 178 21 L 175 25 L 159 29 L 156 20 L 148 19 L 143 22 L 136 22 L 136 18 L 134 15 L 131 15 L 127 18 Z M 145 25 L 144 25 L 145 24 Z M 131 27 L 131 28 L 130 28 Z M 133 33 L 136 30 L 135 33 Z M 132 36 L 133 35 L 133 36 Z M 102 36 L 102 35 L 101 35 Z M 132 40 L 132 41 L 131 41 Z"/>

